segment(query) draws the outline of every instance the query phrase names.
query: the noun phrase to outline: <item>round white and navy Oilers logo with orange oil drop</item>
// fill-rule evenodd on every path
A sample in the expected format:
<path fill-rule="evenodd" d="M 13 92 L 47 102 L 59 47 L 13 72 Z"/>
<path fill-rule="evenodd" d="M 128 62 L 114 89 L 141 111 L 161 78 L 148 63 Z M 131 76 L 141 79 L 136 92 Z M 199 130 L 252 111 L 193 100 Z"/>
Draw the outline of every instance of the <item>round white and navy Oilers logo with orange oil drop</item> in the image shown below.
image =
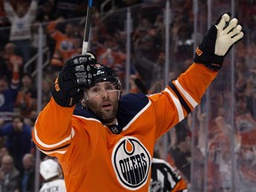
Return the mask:
<path fill-rule="evenodd" d="M 137 190 L 147 183 L 151 156 L 137 138 L 125 137 L 116 143 L 112 164 L 124 188 Z"/>

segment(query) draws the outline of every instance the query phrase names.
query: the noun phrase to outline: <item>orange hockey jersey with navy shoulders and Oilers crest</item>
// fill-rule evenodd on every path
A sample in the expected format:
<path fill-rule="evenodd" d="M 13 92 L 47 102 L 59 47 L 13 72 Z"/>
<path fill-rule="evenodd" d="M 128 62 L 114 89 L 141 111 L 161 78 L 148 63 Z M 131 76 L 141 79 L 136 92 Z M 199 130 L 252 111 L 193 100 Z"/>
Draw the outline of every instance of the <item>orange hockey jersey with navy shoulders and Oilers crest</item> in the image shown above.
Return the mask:
<path fill-rule="evenodd" d="M 163 92 L 125 94 L 116 127 L 52 99 L 36 120 L 33 140 L 44 154 L 59 158 L 68 192 L 148 191 L 156 140 L 188 116 L 216 75 L 194 63 Z"/>

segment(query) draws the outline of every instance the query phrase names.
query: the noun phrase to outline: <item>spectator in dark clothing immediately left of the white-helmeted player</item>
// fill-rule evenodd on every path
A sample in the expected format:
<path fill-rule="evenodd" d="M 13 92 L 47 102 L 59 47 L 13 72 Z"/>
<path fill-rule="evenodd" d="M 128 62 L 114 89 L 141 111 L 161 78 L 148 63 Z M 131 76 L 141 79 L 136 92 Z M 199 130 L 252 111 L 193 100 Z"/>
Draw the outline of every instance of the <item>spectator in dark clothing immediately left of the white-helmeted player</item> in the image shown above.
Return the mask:
<path fill-rule="evenodd" d="M 22 158 L 21 192 L 33 192 L 35 189 L 35 157 L 28 153 Z"/>

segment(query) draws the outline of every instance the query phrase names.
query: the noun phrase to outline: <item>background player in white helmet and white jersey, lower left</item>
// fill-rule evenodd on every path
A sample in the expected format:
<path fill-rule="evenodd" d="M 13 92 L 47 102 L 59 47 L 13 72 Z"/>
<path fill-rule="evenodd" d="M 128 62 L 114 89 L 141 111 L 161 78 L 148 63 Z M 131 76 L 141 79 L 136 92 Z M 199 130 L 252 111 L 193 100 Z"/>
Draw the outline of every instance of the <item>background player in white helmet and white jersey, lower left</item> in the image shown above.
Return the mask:
<path fill-rule="evenodd" d="M 40 174 L 44 178 L 44 184 L 39 192 L 66 192 L 64 180 L 61 178 L 61 169 L 58 162 L 49 158 L 40 163 Z"/>

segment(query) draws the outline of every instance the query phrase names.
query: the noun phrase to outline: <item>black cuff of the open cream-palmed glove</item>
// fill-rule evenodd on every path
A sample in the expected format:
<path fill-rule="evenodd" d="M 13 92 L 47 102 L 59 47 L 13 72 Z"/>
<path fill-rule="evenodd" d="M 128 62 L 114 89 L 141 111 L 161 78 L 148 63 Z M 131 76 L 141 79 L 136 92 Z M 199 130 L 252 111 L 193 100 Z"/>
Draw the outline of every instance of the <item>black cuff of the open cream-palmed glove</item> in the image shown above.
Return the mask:
<path fill-rule="evenodd" d="M 218 56 L 215 54 L 209 54 L 205 52 L 202 45 L 199 45 L 196 48 L 194 61 L 196 63 L 201 63 L 207 68 L 210 68 L 213 71 L 218 71 L 223 63 L 224 56 Z"/>

